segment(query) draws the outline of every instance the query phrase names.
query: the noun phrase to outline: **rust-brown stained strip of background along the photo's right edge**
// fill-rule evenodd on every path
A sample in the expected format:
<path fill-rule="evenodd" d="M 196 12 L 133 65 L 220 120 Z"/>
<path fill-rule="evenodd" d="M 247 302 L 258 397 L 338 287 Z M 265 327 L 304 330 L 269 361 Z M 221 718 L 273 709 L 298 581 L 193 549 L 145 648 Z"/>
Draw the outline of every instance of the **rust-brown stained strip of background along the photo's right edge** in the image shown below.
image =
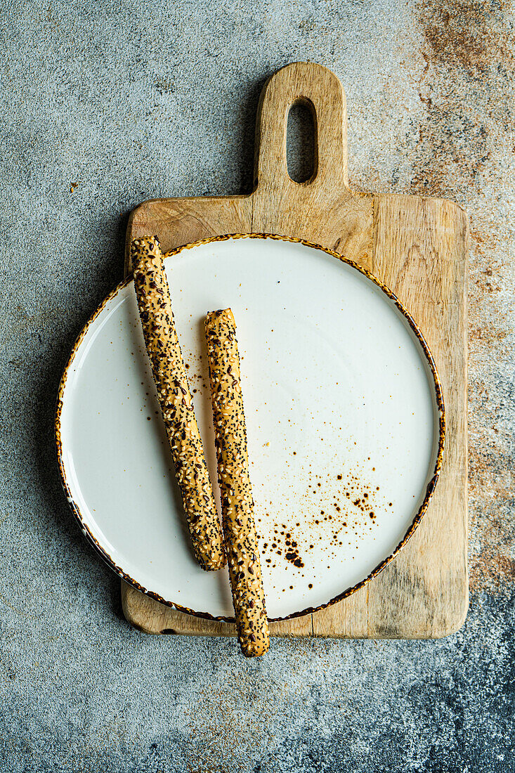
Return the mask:
<path fill-rule="evenodd" d="M 421 46 L 408 56 L 420 109 L 402 154 L 405 192 L 444 196 L 471 221 L 469 568 L 473 591 L 515 584 L 512 199 L 513 29 L 503 2 L 417 0 Z"/>

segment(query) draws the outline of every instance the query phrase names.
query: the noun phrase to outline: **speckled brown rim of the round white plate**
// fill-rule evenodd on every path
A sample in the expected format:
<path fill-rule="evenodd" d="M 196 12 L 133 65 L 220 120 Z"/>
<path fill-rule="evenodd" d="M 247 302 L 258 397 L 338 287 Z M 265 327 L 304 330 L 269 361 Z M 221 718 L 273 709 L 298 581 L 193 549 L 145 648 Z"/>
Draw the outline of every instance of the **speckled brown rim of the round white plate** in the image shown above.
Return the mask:
<path fill-rule="evenodd" d="M 368 271 L 367 268 L 360 266 L 360 264 L 356 263 L 356 261 L 353 261 L 348 257 L 340 255 L 335 250 L 331 250 L 329 249 L 329 247 L 322 247 L 321 244 L 317 244 L 309 240 L 300 239 L 298 237 L 288 237 L 285 234 L 260 233 L 260 232 L 224 233 L 218 236 L 208 237 L 206 239 L 201 239 L 194 242 L 188 242 L 186 244 L 182 244 L 180 247 L 174 247 L 172 250 L 169 250 L 168 252 L 163 254 L 163 259 L 165 260 L 168 257 L 177 255 L 181 253 L 182 250 L 190 250 L 190 249 L 193 249 L 194 247 L 200 247 L 203 244 L 210 244 L 210 243 L 219 242 L 219 241 L 227 241 L 230 239 L 233 239 L 233 240 L 275 239 L 275 240 L 286 241 L 290 243 L 303 244 L 305 247 L 312 247 L 315 250 L 322 250 L 322 252 L 325 252 L 326 254 L 331 255 L 332 257 L 336 257 L 342 263 L 352 267 L 356 271 L 359 271 L 360 274 L 363 274 L 363 276 L 365 276 L 367 279 L 372 281 L 373 284 L 375 284 L 381 291 L 383 291 L 384 295 L 387 295 L 387 298 L 389 298 L 391 301 L 394 302 L 394 305 L 397 307 L 398 311 L 401 312 L 401 314 L 407 320 L 412 331 L 414 332 L 414 335 L 417 337 L 419 344 L 421 345 L 422 351 L 424 352 L 425 359 L 427 360 L 429 369 L 431 370 L 431 376 L 435 386 L 435 397 L 436 397 L 436 404 L 438 409 L 438 451 L 436 454 L 435 466 L 433 468 L 433 472 L 432 472 L 431 478 L 429 479 L 428 485 L 426 486 L 424 500 L 421 502 L 421 506 L 418 508 L 417 512 L 415 513 L 414 518 L 411 521 L 410 526 L 408 526 L 408 530 L 406 531 L 406 533 L 404 533 L 402 540 L 397 544 L 397 547 L 394 548 L 392 553 L 386 558 L 384 558 L 384 560 L 382 560 L 380 564 L 377 564 L 377 567 L 375 567 L 370 572 L 370 574 L 367 575 L 367 577 L 364 577 L 363 580 L 361 580 L 359 583 L 356 583 L 355 585 L 346 588 L 346 590 L 342 591 L 342 593 L 337 594 L 329 601 L 327 601 L 325 604 L 319 604 L 319 606 L 317 607 L 307 607 L 301 611 L 292 612 L 291 615 L 285 615 L 285 617 L 268 618 L 269 622 L 281 622 L 281 621 L 293 620 L 295 618 L 300 618 L 300 617 L 303 617 L 304 615 L 312 615 L 314 612 L 321 611 L 322 609 L 327 609 L 328 607 L 333 606 L 333 604 L 337 604 L 339 601 L 343 601 L 344 598 L 348 598 L 350 595 L 352 595 L 353 593 L 356 593 L 356 591 L 359 591 L 362 587 L 365 587 L 367 584 L 369 584 L 370 581 L 373 580 L 373 577 L 377 577 L 377 575 L 380 574 L 380 572 L 382 572 L 384 568 L 391 563 L 392 560 L 394 560 L 397 554 L 401 552 L 401 550 L 406 545 L 406 543 L 408 543 L 408 540 L 410 540 L 411 536 L 414 534 L 415 530 L 417 529 L 418 525 L 421 522 L 421 519 L 424 517 L 425 512 L 428 509 L 429 502 L 431 501 L 431 496 L 435 491 L 435 487 L 438 482 L 438 477 L 440 475 L 440 471 L 442 468 L 443 454 L 444 454 L 444 448 L 445 448 L 445 430 L 446 430 L 445 403 L 444 403 L 444 397 L 443 397 L 442 382 L 438 374 L 438 369 L 436 367 L 435 359 L 431 353 L 431 349 L 429 349 L 428 342 L 425 340 L 425 337 L 421 332 L 421 329 L 414 321 L 414 318 L 412 317 L 410 312 L 408 312 L 408 309 L 401 303 L 401 301 L 399 301 L 399 299 L 397 298 L 397 295 L 395 295 L 394 292 L 389 287 L 387 287 L 386 284 L 384 284 L 384 282 L 380 281 L 379 278 L 377 278 L 374 274 Z M 82 343 L 84 336 L 87 334 L 88 330 L 90 329 L 90 325 L 94 323 L 95 319 L 97 318 L 98 315 L 100 315 L 100 313 L 105 308 L 105 306 L 107 306 L 107 304 L 113 298 L 115 298 L 116 295 L 118 295 L 118 293 L 121 290 L 123 290 L 123 288 L 127 287 L 128 284 L 131 284 L 131 281 L 133 281 L 132 274 L 128 274 L 127 277 L 125 277 L 121 282 L 119 282 L 111 290 L 111 292 L 108 295 L 106 295 L 104 300 L 101 301 L 101 304 L 97 306 L 94 313 L 90 315 L 90 318 L 87 320 L 87 322 L 81 329 L 79 335 L 77 335 L 77 339 L 73 343 L 72 349 L 70 351 L 70 356 L 68 357 L 67 364 L 63 370 L 63 375 L 61 376 L 59 390 L 57 392 L 56 410 L 55 410 L 55 417 L 54 417 L 54 434 L 55 434 L 55 443 L 56 443 L 57 465 L 59 467 L 61 485 L 63 486 L 63 491 L 67 497 L 67 501 L 73 513 L 73 516 L 75 517 L 83 535 L 86 537 L 87 542 L 90 543 L 90 546 L 94 548 L 97 555 L 99 555 L 101 559 L 104 560 L 104 563 L 107 564 L 107 566 L 109 566 L 112 570 L 114 570 L 114 572 L 118 574 L 118 576 L 121 577 L 121 579 L 124 582 L 131 585 L 132 587 L 135 587 L 137 591 L 140 591 L 141 593 L 147 595 L 149 598 L 152 598 L 155 601 L 159 601 L 159 604 L 164 604 L 166 607 L 174 608 L 177 611 L 186 613 L 187 615 L 193 615 L 194 617 L 203 618 L 206 620 L 234 623 L 234 617 L 228 617 L 227 615 L 210 615 L 209 612 L 199 612 L 199 611 L 190 609 L 189 607 L 182 606 L 182 604 L 177 604 L 176 601 L 168 601 L 167 599 L 162 598 L 162 596 L 160 596 L 159 594 L 155 593 L 155 591 L 150 591 L 148 590 L 148 588 L 143 587 L 141 584 L 138 583 L 138 581 L 136 581 L 135 579 L 133 579 L 133 577 L 127 574 L 121 567 L 118 567 L 117 564 L 109 555 L 109 553 L 107 553 L 107 550 L 105 550 L 104 547 L 101 546 L 101 543 L 99 543 L 94 537 L 93 533 L 91 533 L 89 527 L 87 526 L 87 523 L 84 521 L 84 518 L 82 516 L 82 513 L 80 512 L 80 508 L 77 505 L 77 502 L 75 502 L 73 499 L 70 486 L 68 485 L 68 482 L 67 482 L 67 475 L 65 472 L 64 462 L 63 462 L 61 417 L 62 417 L 63 404 L 64 404 L 64 392 L 66 390 L 70 368 L 73 365 L 73 360 L 77 355 L 77 351 L 80 348 L 80 344 Z"/>

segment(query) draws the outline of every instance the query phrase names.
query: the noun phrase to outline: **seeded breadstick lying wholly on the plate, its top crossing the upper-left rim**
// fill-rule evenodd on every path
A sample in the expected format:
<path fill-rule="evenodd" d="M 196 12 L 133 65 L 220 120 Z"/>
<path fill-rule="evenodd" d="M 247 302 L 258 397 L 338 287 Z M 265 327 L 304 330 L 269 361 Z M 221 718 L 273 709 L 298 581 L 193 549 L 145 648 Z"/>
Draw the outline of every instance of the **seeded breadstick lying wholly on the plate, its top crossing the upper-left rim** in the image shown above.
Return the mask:
<path fill-rule="evenodd" d="M 173 320 L 158 238 L 135 239 L 131 244 L 131 260 L 145 346 L 172 450 L 193 552 L 203 569 L 220 569 L 225 564 L 223 536 Z"/>

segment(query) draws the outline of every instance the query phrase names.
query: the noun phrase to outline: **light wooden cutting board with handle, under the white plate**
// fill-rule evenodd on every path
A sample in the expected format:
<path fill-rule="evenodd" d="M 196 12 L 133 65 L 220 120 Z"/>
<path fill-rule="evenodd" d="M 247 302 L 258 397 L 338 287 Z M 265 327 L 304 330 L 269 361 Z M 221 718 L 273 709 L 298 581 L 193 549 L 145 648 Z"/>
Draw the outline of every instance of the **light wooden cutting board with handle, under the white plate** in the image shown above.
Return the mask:
<path fill-rule="evenodd" d="M 315 176 L 303 184 L 288 177 L 285 152 L 288 111 L 299 101 L 312 110 L 318 135 Z M 384 281 L 428 340 L 442 378 L 447 417 L 440 480 L 404 550 L 349 598 L 313 615 L 274 623 L 271 633 L 356 638 L 452 633 L 468 607 L 466 213 L 443 199 L 350 190 L 343 88 L 325 67 L 301 62 L 279 70 L 262 91 L 254 192 L 142 203 L 131 213 L 127 244 L 156 233 L 163 249 L 171 250 L 223 233 L 255 232 L 329 247 Z M 145 632 L 234 635 L 234 625 L 185 615 L 124 582 L 121 595 L 125 617 Z"/>

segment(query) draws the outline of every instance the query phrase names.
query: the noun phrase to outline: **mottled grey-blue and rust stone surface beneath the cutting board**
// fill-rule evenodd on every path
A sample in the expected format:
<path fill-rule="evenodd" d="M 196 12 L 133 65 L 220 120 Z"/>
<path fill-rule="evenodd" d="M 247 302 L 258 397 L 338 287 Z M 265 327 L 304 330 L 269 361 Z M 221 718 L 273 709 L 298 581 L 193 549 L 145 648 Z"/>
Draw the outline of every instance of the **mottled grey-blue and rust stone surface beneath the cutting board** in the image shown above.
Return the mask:
<path fill-rule="evenodd" d="M 0 0 L 5 771 L 512 771 L 514 17 L 503 0 Z M 121 278 L 128 212 L 248 191 L 264 80 L 346 88 L 357 189 L 468 210 L 470 571 L 436 642 L 132 631 L 53 451 L 60 373 Z"/>

